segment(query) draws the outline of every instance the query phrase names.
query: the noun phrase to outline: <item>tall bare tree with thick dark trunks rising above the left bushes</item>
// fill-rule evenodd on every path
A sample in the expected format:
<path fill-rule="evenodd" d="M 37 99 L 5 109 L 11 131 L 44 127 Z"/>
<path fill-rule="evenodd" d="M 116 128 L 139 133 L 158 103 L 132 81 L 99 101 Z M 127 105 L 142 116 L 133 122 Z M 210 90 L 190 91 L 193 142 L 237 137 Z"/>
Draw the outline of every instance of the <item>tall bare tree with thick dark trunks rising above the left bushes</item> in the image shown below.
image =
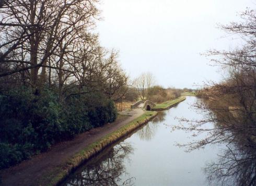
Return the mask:
<path fill-rule="evenodd" d="M 61 44 L 66 45 L 68 38 L 78 38 L 80 31 L 94 27 L 96 2 L 5 1 L 0 10 L 0 63 L 8 68 L 1 70 L 0 77 L 28 71 L 30 83 L 36 86 L 41 70 L 44 81 L 47 61 Z"/>

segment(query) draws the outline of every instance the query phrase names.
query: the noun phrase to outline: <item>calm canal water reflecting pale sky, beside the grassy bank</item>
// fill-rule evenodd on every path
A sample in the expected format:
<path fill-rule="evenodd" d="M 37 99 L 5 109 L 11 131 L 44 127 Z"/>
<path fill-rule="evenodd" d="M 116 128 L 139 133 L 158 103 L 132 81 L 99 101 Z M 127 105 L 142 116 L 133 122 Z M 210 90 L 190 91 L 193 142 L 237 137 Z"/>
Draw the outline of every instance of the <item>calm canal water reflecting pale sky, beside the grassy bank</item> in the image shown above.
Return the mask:
<path fill-rule="evenodd" d="M 196 101 L 187 96 L 176 107 L 159 112 L 153 121 L 78 168 L 63 185 L 209 185 L 203 168 L 217 159 L 222 147 L 210 145 L 188 153 L 177 143 L 194 140 L 192 133 L 172 131 L 179 125 L 177 118 L 202 119 L 191 106 Z"/>

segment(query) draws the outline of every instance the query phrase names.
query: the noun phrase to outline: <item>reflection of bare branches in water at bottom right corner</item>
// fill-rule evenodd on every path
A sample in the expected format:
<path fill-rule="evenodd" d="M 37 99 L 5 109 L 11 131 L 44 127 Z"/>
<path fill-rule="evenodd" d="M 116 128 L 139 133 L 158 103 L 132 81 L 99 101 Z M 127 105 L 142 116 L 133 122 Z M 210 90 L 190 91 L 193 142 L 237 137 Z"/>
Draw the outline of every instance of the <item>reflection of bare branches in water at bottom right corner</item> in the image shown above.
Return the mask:
<path fill-rule="evenodd" d="M 255 145 L 241 137 L 239 142 L 230 142 L 218 162 L 205 168 L 208 180 L 216 185 L 256 185 Z"/>

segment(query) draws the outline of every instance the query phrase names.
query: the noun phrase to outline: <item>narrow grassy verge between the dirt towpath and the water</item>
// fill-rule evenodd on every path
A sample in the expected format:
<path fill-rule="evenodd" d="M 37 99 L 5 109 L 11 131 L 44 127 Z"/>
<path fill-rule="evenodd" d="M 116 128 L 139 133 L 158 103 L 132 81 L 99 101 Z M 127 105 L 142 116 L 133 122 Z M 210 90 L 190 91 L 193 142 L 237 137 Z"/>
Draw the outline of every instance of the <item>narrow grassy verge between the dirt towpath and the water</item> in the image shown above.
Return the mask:
<path fill-rule="evenodd" d="M 85 163 L 88 159 L 101 152 L 107 146 L 123 138 L 125 135 L 133 132 L 138 127 L 141 127 L 149 120 L 153 119 L 156 115 L 157 112 L 155 111 L 145 111 L 142 116 L 134 119 L 117 131 L 112 132 L 103 137 L 102 139 L 90 144 L 84 150 L 76 153 L 73 157 L 69 158 L 65 164 L 56 167 L 54 170 L 50 171 L 48 175 L 45 175 L 43 177 L 39 185 L 60 184 L 75 168 Z"/>

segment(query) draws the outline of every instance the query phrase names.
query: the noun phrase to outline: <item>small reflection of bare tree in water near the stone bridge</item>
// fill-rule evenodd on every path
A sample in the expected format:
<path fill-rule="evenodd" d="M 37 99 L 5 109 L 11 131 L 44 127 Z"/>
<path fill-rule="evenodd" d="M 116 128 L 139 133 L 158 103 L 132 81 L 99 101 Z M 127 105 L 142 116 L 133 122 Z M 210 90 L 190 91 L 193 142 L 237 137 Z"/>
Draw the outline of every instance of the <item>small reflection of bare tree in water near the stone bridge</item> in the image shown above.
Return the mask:
<path fill-rule="evenodd" d="M 166 112 L 165 111 L 159 111 L 156 118 L 152 120 L 152 122 L 147 123 L 142 129 L 138 130 L 136 134 L 139 136 L 141 140 L 151 140 L 156 131 L 157 131 L 157 123 L 164 121 Z"/>

